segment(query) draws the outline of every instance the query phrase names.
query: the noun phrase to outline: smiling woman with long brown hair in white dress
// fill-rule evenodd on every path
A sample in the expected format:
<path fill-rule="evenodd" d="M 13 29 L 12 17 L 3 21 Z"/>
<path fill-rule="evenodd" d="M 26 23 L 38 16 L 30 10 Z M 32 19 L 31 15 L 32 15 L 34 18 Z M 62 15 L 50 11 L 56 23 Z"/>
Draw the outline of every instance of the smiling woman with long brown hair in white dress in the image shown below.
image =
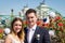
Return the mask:
<path fill-rule="evenodd" d="M 15 17 L 11 23 L 11 33 L 6 35 L 4 43 L 24 43 L 23 20 Z"/>

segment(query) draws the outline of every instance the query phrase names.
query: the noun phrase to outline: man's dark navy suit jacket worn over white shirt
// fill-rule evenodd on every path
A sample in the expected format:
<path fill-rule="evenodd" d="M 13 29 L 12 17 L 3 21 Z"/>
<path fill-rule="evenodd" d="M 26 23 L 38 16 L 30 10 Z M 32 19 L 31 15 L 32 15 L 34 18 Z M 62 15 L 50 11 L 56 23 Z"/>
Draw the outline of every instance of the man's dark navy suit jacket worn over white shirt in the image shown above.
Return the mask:
<path fill-rule="evenodd" d="M 27 31 L 28 30 L 25 28 L 25 41 L 24 41 L 25 43 L 28 43 L 27 42 Z M 37 37 L 38 34 L 39 34 L 39 37 Z M 48 30 L 37 26 L 34 37 L 31 39 L 31 43 L 51 43 Z"/>

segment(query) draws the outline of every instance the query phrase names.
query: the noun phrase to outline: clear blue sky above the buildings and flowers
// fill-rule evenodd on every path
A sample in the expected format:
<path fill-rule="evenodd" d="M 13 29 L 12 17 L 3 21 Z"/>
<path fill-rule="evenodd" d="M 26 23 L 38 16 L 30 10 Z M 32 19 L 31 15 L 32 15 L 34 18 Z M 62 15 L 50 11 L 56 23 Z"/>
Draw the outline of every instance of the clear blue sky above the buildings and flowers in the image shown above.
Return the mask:
<path fill-rule="evenodd" d="M 25 5 L 30 9 L 35 9 L 40 5 L 43 0 L 0 0 L 0 14 L 10 15 L 11 9 L 14 10 L 14 14 L 18 14 Z M 46 4 L 65 16 L 65 0 L 46 0 Z"/>

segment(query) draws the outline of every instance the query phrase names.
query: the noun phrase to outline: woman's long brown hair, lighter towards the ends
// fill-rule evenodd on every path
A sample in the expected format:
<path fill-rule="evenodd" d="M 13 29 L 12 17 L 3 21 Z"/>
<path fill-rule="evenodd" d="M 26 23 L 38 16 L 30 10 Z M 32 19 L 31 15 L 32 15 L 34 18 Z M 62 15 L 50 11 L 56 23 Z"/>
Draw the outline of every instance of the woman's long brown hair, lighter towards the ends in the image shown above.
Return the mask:
<path fill-rule="evenodd" d="M 23 27 L 23 20 L 22 20 L 22 18 L 15 17 L 15 18 L 12 20 L 12 23 L 11 23 L 11 32 L 15 33 L 15 31 L 14 31 L 14 29 L 13 29 L 13 26 L 14 26 L 14 23 L 17 22 L 17 20 L 20 20 L 20 22 L 22 23 L 22 29 L 21 29 L 21 31 L 17 33 L 17 37 L 18 37 L 20 39 L 24 40 L 25 33 L 24 33 L 24 27 Z"/>

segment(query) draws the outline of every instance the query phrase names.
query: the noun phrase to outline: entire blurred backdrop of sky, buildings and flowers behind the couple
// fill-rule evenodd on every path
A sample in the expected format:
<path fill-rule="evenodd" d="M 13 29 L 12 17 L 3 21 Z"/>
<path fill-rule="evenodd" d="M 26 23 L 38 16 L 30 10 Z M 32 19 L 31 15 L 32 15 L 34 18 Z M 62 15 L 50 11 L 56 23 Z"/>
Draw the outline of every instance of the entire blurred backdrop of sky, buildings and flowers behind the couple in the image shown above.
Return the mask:
<path fill-rule="evenodd" d="M 28 9 L 37 11 L 37 25 L 49 30 L 51 43 L 65 43 L 65 0 L 0 0 L 0 43 L 10 33 L 14 17 L 24 20 Z"/>

